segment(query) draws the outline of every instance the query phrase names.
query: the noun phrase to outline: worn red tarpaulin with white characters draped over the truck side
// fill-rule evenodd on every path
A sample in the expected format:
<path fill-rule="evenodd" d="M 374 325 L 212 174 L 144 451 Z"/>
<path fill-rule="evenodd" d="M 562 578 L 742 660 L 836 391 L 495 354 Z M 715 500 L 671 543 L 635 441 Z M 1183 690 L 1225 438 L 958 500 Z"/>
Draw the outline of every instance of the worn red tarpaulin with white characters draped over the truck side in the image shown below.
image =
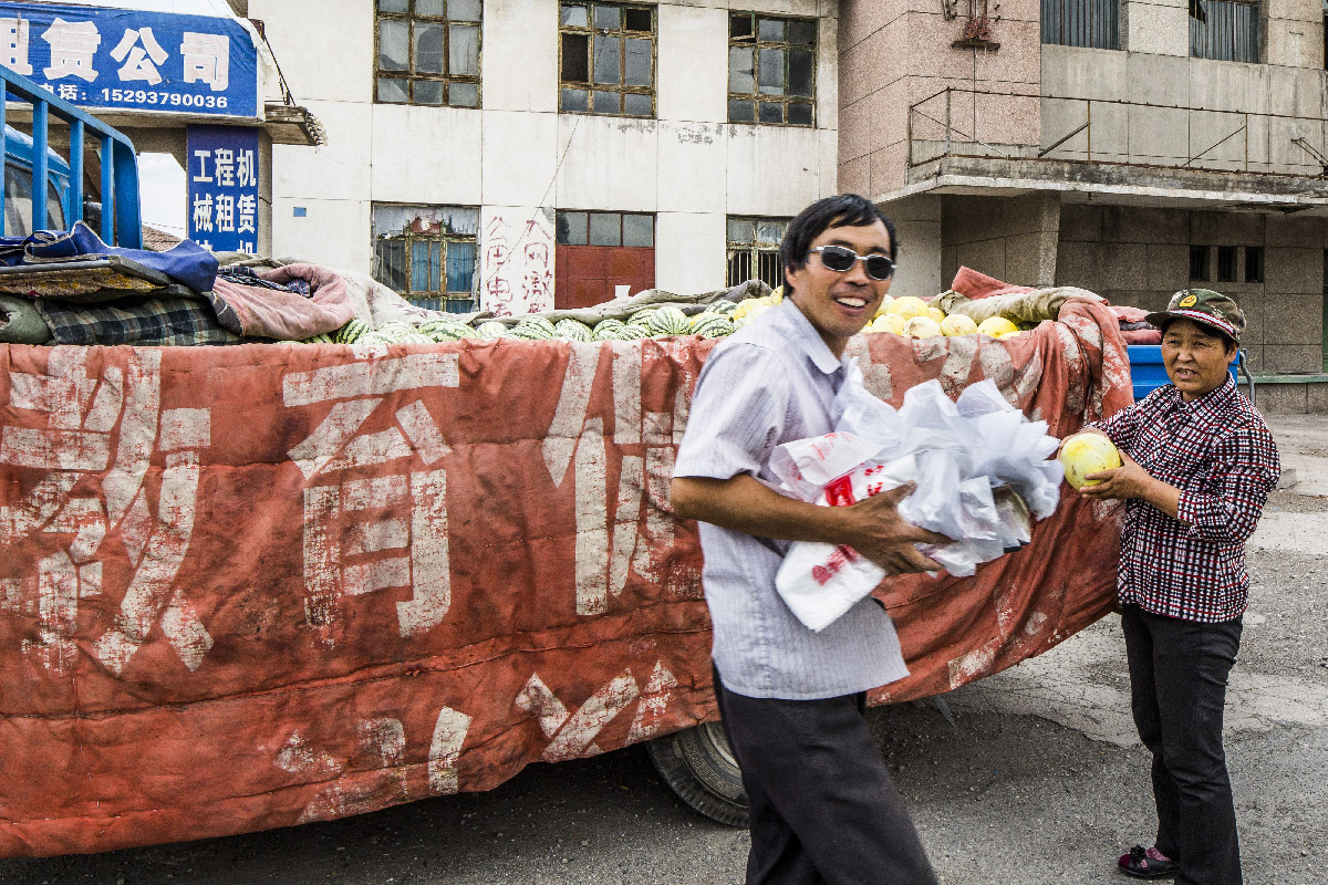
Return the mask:
<path fill-rule="evenodd" d="M 851 346 L 894 403 L 991 377 L 1068 433 L 1130 386 L 1106 308 L 1062 320 Z M 713 345 L 0 346 L 0 854 L 489 789 L 713 719 L 668 510 Z M 1100 617 L 1114 537 L 1066 495 L 972 579 L 887 581 L 912 677 L 876 701 Z"/>

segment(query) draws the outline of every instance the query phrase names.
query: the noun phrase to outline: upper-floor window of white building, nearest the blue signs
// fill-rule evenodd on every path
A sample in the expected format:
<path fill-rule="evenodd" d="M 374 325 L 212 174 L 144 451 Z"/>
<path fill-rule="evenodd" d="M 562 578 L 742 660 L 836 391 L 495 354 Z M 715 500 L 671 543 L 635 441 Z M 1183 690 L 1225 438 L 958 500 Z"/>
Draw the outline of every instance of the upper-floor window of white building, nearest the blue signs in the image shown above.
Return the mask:
<path fill-rule="evenodd" d="M 376 0 L 374 101 L 479 106 L 482 0 Z"/>

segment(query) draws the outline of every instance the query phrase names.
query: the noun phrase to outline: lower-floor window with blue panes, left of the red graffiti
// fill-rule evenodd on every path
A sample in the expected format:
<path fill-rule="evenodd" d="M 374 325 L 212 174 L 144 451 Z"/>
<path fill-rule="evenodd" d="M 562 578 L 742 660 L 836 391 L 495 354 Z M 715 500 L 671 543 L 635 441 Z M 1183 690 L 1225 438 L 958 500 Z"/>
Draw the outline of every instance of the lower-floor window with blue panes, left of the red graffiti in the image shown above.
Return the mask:
<path fill-rule="evenodd" d="M 420 306 L 477 310 L 479 210 L 462 206 L 373 206 L 373 279 Z"/>

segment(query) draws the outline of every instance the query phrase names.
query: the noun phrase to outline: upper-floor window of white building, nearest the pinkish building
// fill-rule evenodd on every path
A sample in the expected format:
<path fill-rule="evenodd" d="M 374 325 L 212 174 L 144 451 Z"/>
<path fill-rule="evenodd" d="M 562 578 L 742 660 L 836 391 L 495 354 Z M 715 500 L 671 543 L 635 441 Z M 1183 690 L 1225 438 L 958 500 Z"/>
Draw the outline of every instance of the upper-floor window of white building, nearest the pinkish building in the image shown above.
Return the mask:
<path fill-rule="evenodd" d="M 817 20 L 729 13 L 729 122 L 815 126 Z"/>

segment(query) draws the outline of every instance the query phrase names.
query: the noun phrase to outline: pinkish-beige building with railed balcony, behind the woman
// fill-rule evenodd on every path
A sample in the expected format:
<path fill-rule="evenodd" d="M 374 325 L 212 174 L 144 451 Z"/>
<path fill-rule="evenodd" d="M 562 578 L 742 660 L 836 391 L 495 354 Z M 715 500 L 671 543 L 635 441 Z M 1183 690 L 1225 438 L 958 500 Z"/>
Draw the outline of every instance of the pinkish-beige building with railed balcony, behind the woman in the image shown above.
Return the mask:
<path fill-rule="evenodd" d="M 896 289 L 968 265 L 1157 309 L 1207 285 L 1240 297 L 1255 372 L 1323 373 L 1321 4 L 1190 9 L 843 0 L 839 187 L 896 218 Z"/>

